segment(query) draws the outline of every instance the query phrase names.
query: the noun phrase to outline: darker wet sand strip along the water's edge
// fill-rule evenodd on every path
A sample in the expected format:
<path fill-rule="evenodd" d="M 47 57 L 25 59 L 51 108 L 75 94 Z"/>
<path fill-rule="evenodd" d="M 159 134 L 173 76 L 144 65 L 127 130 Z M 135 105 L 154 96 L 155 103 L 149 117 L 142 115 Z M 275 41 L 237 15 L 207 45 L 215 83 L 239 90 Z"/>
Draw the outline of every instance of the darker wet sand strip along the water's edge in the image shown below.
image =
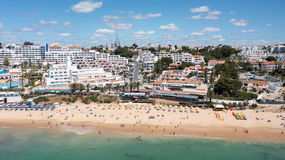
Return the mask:
<path fill-rule="evenodd" d="M 52 129 L 59 131 L 61 133 L 72 133 L 76 134 L 77 136 L 91 136 L 91 135 L 97 135 L 97 136 L 110 136 L 110 137 L 136 137 L 139 135 L 150 137 L 150 138 L 173 138 L 173 132 L 170 135 L 169 131 L 174 130 L 170 126 L 160 126 L 160 130 L 154 130 L 153 132 L 148 129 L 148 125 L 141 125 L 141 128 L 146 130 L 140 132 L 132 131 L 132 127 L 130 125 L 125 126 L 125 128 L 116 127 L 117 125 L 109 125 L 105 126 L 104 124 L 99 125 L 90 125 L 89 123 L 85 123 L 85 127 L 82 128 L 79 123 L 75 123 L 74 125 L 63 125 L 62 126 L 55 126 L 55 127 L 48 127 L 44 128 L 43 125 L 45 122 L 39 121 L 36 122 L 36 124 L 27 125 L 27 123 L 19 123 L 19 122 L 7 122 L 7 121 L 0 121 L 1 124 L 5 123 L 7 126 L 1 126 L 1 128 L 21 128 L 21 129 Z M 51 124 L 54 122 L 51 122 Z M 86 125 L 87 124 L 87 125 Z M 155 128 L 156 126 L 150 126 L 150 128 Z M 166 129 L 164 131 L 164 135 L 159 134 L 162 133 L 163 129 Z M 222 130 L 223 129 L 223 130 Z M 102 131 L 102 134 L 98 134 L 98 131 Z M 204 136 L 205 130 L 207 130 L 208 136 Z M 221 132 L 217 130 L 222 130 Z M 217 127 L 207 127 L 207 128 L 201 128 L 199 126 L 192 126 L 191 130 L 184 130 L 183 134 L 175 134 L 176 138 L 197 138 L 197 139 L 213 139 L 213 140 L 226 140 L 226 141 L 243 141 L 243 142 L 263 142 L 263 143 L 284 143 L 285 138 L 284 135 L 281 135 L 280 133 L 273 133 L 272 129 L 268 130 L 268 128 L 248 128 L 249 133 L 243 132 L 243 128 L 237 128 L 237 132 L 235 132 L 232 129 L 229 128 L 217 128 Z M 86 131 L 86 132 L 84 132 Z M 168 131 L 168 132 L 167 132 Z M 267 132 L 270 131 L 270 132 Z M 274 129 L 273 131 L 278 132 L 278 130 Z M 83 133 L 82 133 L 83 132 Z M 177 133 L 177 132 L 176 132 Z M 270 134 L 270 138 L 268 138 L 268 134 Z"/>

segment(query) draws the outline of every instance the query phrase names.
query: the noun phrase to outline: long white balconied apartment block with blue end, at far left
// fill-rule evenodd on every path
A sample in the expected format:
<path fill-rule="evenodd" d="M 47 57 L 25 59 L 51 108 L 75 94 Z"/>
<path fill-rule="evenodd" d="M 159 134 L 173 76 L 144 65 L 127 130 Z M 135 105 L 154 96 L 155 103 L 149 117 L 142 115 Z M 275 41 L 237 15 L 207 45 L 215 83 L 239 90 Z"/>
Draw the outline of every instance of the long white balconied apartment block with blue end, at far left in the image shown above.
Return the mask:
<path fill-rule="evenodd" d="M 9 48 L 0 49 L 0 63 L 3 63 L 5 58 L 9 58 L 9 60 L 26 61 L 37 65 L 37 61 L 40 61 L 44 54 L 44 45 L 11 44 L 11 50 Z"/>

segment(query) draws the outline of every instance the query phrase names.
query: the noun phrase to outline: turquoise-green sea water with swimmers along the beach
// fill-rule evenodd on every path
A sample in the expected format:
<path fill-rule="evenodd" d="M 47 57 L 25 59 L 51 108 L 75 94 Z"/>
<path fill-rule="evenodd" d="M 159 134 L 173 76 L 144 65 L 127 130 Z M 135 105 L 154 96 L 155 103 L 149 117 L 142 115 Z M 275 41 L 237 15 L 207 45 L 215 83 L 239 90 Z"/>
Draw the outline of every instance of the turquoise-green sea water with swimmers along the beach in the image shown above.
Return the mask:
<path fill-rule="evenodd" d="M 142 135 L 137 139 L 136 136 L 99 135 L 92 129 L 82 131 L 76 127 L 60 130 L 0 127 L 0 139 L 4 140 L 0 143 L 0 159 L 285 159 L 284 144 L 209 138 L 196 141 L 197 138 L 190 136 L 176 136 L 174 139 L 173 136 Z M 107 137 L 110 141 L 106 140 Z M 144 140 L 146 143 L 141 143 Z M 88 144 L 89 141 L 92 145 Z"/>

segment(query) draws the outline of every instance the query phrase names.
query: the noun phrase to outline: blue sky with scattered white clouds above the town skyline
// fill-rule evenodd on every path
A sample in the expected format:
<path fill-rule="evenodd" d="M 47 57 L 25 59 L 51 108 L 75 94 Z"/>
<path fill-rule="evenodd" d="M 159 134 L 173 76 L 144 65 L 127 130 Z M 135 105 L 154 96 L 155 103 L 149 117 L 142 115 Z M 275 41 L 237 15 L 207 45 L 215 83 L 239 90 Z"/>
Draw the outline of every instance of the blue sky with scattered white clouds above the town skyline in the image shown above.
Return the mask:
<path fill-rule="evenodd" d="M 285 43 L 282 1 L 6 1 L 0 42 L 84 46 Z"/>

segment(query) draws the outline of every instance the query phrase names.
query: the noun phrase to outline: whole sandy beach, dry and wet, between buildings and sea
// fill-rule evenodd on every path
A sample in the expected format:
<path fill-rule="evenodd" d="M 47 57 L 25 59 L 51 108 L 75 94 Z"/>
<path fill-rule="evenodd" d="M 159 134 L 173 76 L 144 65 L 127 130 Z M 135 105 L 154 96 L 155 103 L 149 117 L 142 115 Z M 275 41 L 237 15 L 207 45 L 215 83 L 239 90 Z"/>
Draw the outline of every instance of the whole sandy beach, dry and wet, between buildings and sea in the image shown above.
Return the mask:
<path fill-rule="evenodd" d="M 81 108 L 78 110 L 76 108 Z M 108 105 L 108 104 L 106 104 Z M 90 108 L 86 108 L 89 106 Z M 243 110 L 246 114 L 247 120 L 236 120 L 232 115 L 233 111 L 218 113 L 221 117 L 225 118 L 224 121 L 218 120 L 215 117 L 213 110 L 200 109 L 200 113 L 186 113 L 186 112 L 168 112 L 162 110 L 150 110 L 150 113 L 146 113 L 147 110 L 136 110 L 135 108 L 125 110 L 122 107 L 120 110 L 118 107 L 114 109 L 102 110 L 103 104 L 72 104 L 61 105 L 54 111 L 8 111 L 0 110 L 0 126 L 3 127 L 44 127 L 52 126 L 52 128 L 60 128 L 61 122 L 64 125 L 82 127 L 96 127 L 97 130 L 93 134 L 98 134 L 101 130 L 103 134 L 147 134 L 147 135 L 159 135 L 170 136 L 170 132 L 175 132 L 175 136 L 196 136 L 203 138 L 221 138 L 228 140 L 243 140 L 243 141 L 262 141 L 262 142 L 285 142 L 285 134 L 280 134 L 282 130 L 285 131 L 280 124 L 285 123 L 285 120 L 276 118 L 276 115 L 284 113 L 270 113 L 270 112 L 258 112 L 254 110 Z M 66 108 L 69 110 L 66 111 Z M 90 111 L 92 109 L 92 111 Z M 93 112 L 93 114 L 91 114 Z M 41 113 L 43 114 L 41 116 Z M 29 116 L 32 114 L 32 116 Z M 47 118 L 51 114 L 54 116 Z M 72 117 L 72 114 L 74 116 Z M 86 116 L 89 114 L 89 116 Z M 95 117 L 94 114 L 97 114 Z M 160 116 L 157 116 L 160 114 Z M 162 117 L 162 114 L 164 116 Z M 101 115 L 101 117 L 99 117 Z M 113 116 L 111 116 L 113 115 Z M 68 117 L 67 117 L 68 116 Z M 136 118 L 135 118 L 136 116 Z M 149 116 L 156 116 L 154 119 L 149 119 Z M 188 116 L 188 119 L 187 119 Z M 263 118 L 264 120 L 257 120 L 256 117 Z M 68 118 L 65 120 L 65 118 Z M 267 122 L 271 119 L 271 122 Z M 30 124 L 32 121 L 35 123 Z M 50 122 L 50 124 L 48 124 Z M 141 122 L 141 123 L 139 123 Z M 180 123 L 181 122 L 181 123 Z M 57 123 L 57 126 L 56 126 Z M 137 123 L 137 124 L 136 124 Z M 121 124 L 125 124 L 125 127 L 121 127 Z M 178 127 L 179 125 L 179 127 Z M 177 126 L 177 128 L 175 128 Z M 157 127 L 157 128 L 156 128 Z M 182 127 L 182 130 L 181 130 Z M 164 131 L 165 128 L 165 131 Z M 237 131 L 235 131 L 235 128 Z M 135 129 L 135 130 L 134 130 Z M 243 130 L 249 130 L 246 134 Z M 153 131 L 153 132 L 152 132 Z M 181 133 L 183 132 L 183 135 Z M 204 136 L 207 132 L 207 136 Z M 179 135 L 178 135 L 179 134 Z"/>

